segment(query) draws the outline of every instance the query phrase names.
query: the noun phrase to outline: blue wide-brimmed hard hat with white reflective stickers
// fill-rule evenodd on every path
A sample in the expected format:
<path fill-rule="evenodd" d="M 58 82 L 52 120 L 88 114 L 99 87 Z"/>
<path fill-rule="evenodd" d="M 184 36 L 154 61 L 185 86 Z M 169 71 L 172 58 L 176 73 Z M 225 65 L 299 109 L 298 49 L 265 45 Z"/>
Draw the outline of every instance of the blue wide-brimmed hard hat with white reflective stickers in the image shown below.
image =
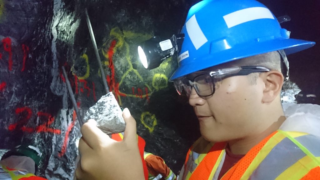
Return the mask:
<path fill-rule="evenodd" d="M 181 30 L 185 34 L 178 69 L 181 76 L 245 57 L 284 49 L 286 54 L 315 42 L 291 39 L 276 17 L 255 0 L 204 0 L 192 6 Z"/>

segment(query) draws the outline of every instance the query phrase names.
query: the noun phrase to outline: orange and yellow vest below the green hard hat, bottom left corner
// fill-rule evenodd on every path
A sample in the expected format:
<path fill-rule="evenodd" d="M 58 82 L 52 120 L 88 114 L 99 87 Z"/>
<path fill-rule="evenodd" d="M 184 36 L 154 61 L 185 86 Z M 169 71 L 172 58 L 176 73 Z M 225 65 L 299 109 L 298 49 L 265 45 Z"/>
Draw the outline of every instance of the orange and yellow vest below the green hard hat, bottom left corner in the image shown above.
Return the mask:
<path fill-rule="evenodd" d="M 26 171 L 10 169 L 6 166 L 0 168 L 0 179 L 12 179 L 12 180 L 46 180 L 45 178 L 35 176 L 34 174 Z"/>

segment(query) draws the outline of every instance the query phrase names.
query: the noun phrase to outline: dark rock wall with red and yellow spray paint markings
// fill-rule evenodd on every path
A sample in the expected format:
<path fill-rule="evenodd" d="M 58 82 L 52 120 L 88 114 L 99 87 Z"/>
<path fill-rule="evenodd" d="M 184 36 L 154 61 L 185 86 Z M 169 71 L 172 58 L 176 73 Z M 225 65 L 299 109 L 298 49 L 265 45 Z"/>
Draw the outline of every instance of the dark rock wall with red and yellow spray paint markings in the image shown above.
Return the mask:
<path fill-rule="evenodd" d="M 0 149 L 32 144 L 43 152 L 38 176 L 73 178 L 76 144 L 81 134 L 61 67 L 68 72 L 83 117 L 105 95 L 85 20 L 86 8 L 110 91 L 136 119 L 138 134 L 146 140 L 146 151 L 161 156 L 178 173 L 188 147 L 200 134 L 188 99 L 179 96 L 168 82 L 178 66 L 176 56 L 154 70 L 145 70 L 136 50 L 139 43 L 154 35 L 165 40 L 178 33 L 187 10 L 196 2 L 0 0 Z M 271 7 L 276 16 L 286 15 L 283 9 L 276 8 L 284 1 L 261 2 Z M 314 2 L 310 7 L 298 3 L 284 12 L 294 17 L 290 9 L 308 7 L 314 18 L 310 20 L 317 20 L 320 14 L 315 8 L 319 4 Z M 290 24 L 285 23 L 284 26 Z M 297 27 L 284 28 L 292 30 L 293 37 L 303 38 L 293 33 L 299 25 L 301 32 L 311 33 L 312 26 L 292 23 Z M 317 28 L 314 33 L 320 32 Z M 305 39 L 320 42 L 320 36 L 309 36 Z M 318 47 L 309 52 L 316 54 L 316 50 Z M 303 58 L 319 59 L 308 52 L 302 54 Z M 294 58 L 293 62 L 296 64 L 291 64 L 291 70 L 295 71 L 290 73 L 299 80 L 300 63 Z M 310 64 L 312 72 L 303 72 L 317 79 L 319 63 Z M 297 82 L 301 89 L 308 87 L 306 83 Z"/>

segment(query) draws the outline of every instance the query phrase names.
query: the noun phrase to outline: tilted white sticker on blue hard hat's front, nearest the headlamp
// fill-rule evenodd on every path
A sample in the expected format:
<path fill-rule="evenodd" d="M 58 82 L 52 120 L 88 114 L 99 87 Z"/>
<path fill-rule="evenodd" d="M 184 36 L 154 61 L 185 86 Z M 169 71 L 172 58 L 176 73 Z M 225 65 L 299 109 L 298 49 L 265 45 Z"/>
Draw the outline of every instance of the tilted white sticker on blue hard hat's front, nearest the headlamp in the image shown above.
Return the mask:
<path fill-rule="evenodd" d="M 188 35 L 191 39 L 192 44 L 195 46 L 196 50 L 198 50 L 202 45 L 208 42 L 208 39 L 204 36 L 197 20 L 196 15 L 193 15 L 186 22 L 186 29 Z"/>

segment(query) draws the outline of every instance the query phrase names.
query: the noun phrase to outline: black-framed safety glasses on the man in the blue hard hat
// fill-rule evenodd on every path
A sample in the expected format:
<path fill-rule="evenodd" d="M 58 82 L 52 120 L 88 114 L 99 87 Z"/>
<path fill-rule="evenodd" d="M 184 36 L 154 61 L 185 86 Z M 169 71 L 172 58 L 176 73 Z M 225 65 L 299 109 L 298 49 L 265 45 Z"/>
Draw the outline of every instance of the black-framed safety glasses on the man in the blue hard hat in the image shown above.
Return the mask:
<path fill-rule="evenodd" d="M 174 81 L 174 86 L 178 92 L 178 94 L 182 94 L 182 88 L 184 91 L 186 91 L 186 95 L 189 96 L 190 93 L 187 92 L 187 87 L 191 87 L 193 86 L 196 90 L 196 93 L 201 96 L 201 97 L 208 97 L 211 96 L 212 94 L 215 93 L 216 90 L 216 82 L 215 79 L 219 79 L 219 81 L 225 79 L 225 78 L 229 78 L 232 76 L 245 76 L 251 73 L 256 73 L 256 72 L 268 72 L 270 71 L 270 69 L 263 67 L 263 66 L 241 66 L 241 67 L 233 67 L 233 68 L 225 68 L 225 69 L 219 69 L 219 70 L 214 70 L 214 71 L 198 71 L 196 74 L 199 73 L 199 75 L 195 76 L 192 80 L 187 78 L 187 77 L 182 77 L 182 78 L 178 78 L 177 80 Z M 194 80 L 200 76 L 206 76 L 208 75 L 211 77 L 212 79 L 212 93 L 208 94 L 208 95 L 200 95 L 200 90 L 197 87 L 197 83 L 194 82 Z M 189 82 L 193 82 L 193 85 L 188 86 L 186 84 L 183 83 L 183 81 L 188 80 Z M 217 82 L 219 82 L 217 81 Z M 192 87 L 191 87 L 192 89 Z M 188 95 L 189 94 L 189 95 Z"/>

